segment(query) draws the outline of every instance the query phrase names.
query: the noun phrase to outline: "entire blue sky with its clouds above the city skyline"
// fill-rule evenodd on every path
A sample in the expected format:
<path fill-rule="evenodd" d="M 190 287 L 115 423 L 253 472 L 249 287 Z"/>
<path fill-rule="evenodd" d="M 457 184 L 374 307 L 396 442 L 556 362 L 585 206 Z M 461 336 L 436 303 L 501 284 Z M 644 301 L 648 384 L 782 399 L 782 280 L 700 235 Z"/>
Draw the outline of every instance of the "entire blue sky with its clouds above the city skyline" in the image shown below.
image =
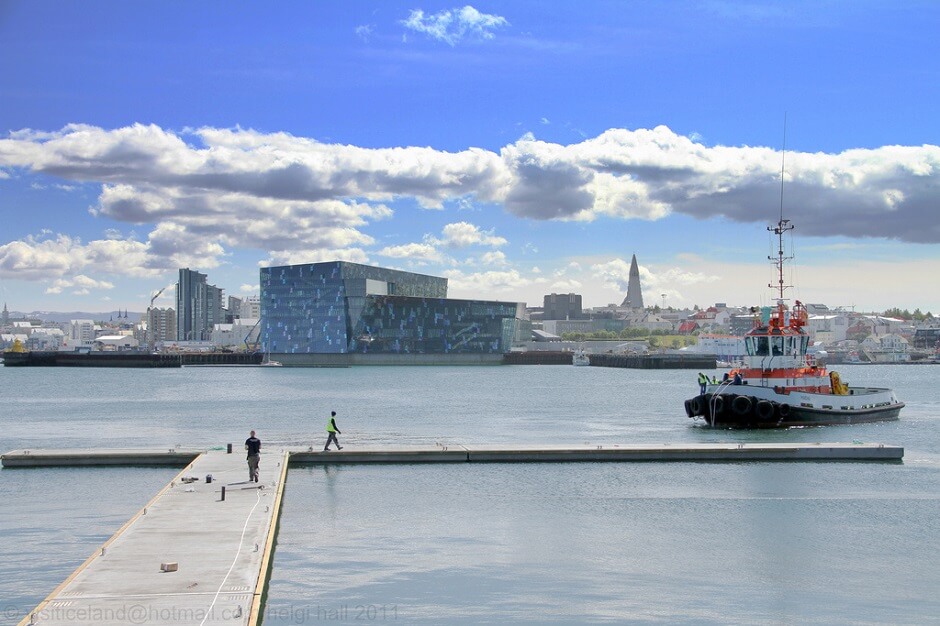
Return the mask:
<path fill-rule="evenodd" d="M 0 2 L 0 300 L 332 259 L 450 295 L 940 313 L 934 2 Z M 158 302 L 171 305 L 172 290 Z"/>

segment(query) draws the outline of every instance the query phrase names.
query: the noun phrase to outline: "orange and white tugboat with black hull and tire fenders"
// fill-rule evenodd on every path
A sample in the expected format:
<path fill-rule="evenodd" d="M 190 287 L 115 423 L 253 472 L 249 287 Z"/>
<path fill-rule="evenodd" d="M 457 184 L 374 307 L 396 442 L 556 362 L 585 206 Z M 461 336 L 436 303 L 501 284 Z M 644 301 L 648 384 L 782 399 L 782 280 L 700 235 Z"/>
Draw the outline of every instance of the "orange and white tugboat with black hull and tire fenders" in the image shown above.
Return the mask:
<path fill-rule="evenodd" d="M 806 307 L 784 300 L 783 235 L 793 230 L 780 220 L 767 230 L 777 236 L 779 277 L 776 307 L 752 308 L 754 327 L 744 336 L 743 365 L 720 383 L 703 383 L 704 391 L 685 401 L 686 414 L 712 427 L 787 428 L 896 420 L 904 407 L 891 389 L 851 387 L 837 372 L 826 371 L 808 354 Z M 792 257 L 790 257 L 792 258 Z M 774 288 L 774 285 L 768 285 Z"/>

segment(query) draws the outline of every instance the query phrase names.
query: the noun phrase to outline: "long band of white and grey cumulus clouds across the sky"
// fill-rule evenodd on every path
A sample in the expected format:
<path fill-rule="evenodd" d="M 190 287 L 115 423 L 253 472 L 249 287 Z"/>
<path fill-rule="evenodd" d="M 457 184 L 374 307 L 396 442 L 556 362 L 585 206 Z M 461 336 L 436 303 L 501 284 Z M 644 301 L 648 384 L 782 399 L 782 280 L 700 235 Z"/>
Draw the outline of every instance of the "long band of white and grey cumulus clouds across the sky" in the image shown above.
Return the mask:
<path fill-rule="evenodd" d="M 474 17 L 479 12 L 461 11 L 450 19 L 487 23 Z M 140 238 L 111 230 L 87 243 L 68 235 L 0 242 L 0 276 L 24 280 L 212 268 L 233 249 L 260 250 L 279 262 L 362 262 L 375 253 L 370 228 L 395 220 L 389 205 L 400 199 L 440 210 L 501 206 L 527 220 L 682 213 L 763 224 L 775 214 L 780 187 L 778 151 L 706 146 L 665 126 L 615 128 L 568 145 L 528 134 L 495 152 L 448 152 L 326 144 L 241 128 L 71 124 L 9 133 L 0 139 L 0 168 L 17 179 L 98 184 L 93 216 L 149 229 Z M 936 145 L 787 153 L 786 212 L 801 234 L 940 243 L 938 200 Z M 455 222 L 424 241 L 383 241 L 383 250 L 402 255 L 403 246 L 412 246 L 415 257 L 437 253 L 450 263 L 441 250 L 506 244 L 494 232 Z M 532 253 L 531 243 L 520 245 Z"/>

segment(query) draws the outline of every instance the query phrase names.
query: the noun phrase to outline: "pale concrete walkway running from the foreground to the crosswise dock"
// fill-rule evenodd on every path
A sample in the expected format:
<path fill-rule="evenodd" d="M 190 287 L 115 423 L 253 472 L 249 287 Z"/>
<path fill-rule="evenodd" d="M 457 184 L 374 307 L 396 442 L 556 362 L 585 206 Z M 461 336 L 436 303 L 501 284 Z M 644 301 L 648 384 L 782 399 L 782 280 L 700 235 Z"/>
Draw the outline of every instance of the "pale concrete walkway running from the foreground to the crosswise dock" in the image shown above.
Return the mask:
<path fill-rule="evenodd" d="M 284 452 L 262 456 L 258 483 L 244 452 L 200 454 L 20 623 L 257 624 L 286 473 Z"/>

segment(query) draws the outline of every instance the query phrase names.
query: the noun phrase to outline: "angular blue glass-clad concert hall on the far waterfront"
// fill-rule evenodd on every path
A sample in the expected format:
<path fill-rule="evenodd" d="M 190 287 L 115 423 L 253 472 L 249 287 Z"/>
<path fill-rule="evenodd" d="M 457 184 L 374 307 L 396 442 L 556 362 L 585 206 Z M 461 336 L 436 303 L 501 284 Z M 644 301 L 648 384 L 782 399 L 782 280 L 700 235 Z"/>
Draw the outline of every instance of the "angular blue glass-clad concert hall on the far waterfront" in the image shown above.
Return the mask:
<path fill-rule="evenodd" d="M 525 304 L 447 297 L 447 279 L 346 261 L 261 269 L 261 343 L 284 365 L 499 363 Z"/>

